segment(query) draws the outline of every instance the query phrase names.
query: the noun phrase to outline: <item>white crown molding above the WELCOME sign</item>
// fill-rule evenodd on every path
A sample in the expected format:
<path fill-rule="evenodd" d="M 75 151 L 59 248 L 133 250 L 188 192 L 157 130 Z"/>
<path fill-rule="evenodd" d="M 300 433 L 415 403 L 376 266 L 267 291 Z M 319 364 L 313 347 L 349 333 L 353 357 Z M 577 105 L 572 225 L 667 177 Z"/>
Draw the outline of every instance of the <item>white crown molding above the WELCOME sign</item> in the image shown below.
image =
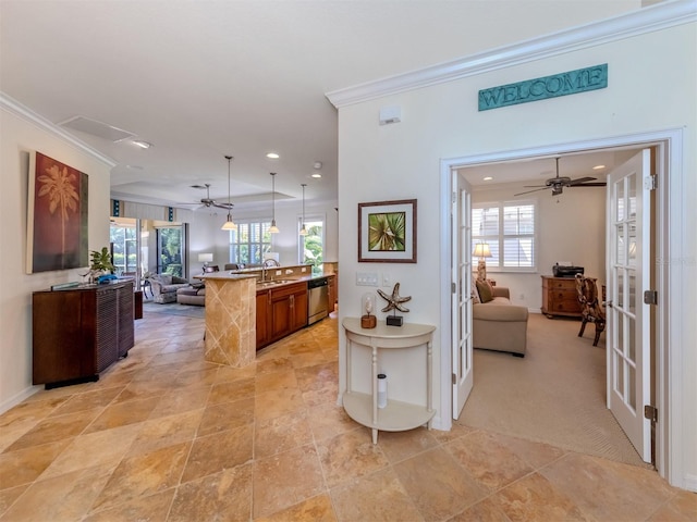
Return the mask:
<path fill-rule="evenodd" d="M 340 109 L 384 96 L 521 65 L 695 21 L 697 21 L 697 0 L 658 3 L 632 13 L 550 33 L 463 59 L 333 90 L 325 96 L 337 109 Z"/>

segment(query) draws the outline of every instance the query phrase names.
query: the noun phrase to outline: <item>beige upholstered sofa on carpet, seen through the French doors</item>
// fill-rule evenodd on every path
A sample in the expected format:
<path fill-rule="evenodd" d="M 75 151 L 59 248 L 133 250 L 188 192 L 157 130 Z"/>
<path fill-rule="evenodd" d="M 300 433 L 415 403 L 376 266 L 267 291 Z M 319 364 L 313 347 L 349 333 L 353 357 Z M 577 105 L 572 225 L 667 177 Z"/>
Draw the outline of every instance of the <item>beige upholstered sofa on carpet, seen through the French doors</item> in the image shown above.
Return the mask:
<path fill-rule="evenodd" d="M 477 286 L 479 288 L 477 288 Z M 473 285 L 473 347 L 525 357 L 527 348 L 527 308 L 511 303 L 508 288 Z"/>

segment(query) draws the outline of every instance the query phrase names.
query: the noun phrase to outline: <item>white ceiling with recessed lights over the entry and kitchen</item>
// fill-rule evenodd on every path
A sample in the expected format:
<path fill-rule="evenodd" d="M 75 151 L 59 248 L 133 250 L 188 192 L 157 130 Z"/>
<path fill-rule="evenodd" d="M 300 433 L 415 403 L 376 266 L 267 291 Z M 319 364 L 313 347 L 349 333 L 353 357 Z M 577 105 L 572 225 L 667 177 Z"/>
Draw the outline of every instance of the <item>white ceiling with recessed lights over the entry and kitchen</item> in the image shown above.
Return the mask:
<path fill-rule="evenodd" d="M 143 150 L 131 139 L 71 130 L 117 162 L 113 198 L 194 203 L 205 190 L 191 186 L 210 183 L 211 197 L 225 201 L 231 154 L 236 207 L 270 199 L 270 172 L 278 173 L 279 204 L 299 199 L 303 183 L 308 202 L 332 201 L 337 111 L 325 94 L 639 7 L 638 0 L 1 0 L 0 90 L 56 124 L 81 115 L 154 144 Z M 269 151 L 281 158 L 266 159 Z M 318 161 L 319 181 L 310 177 Z M 546 178 L 550 165 L 527 166 Z M 510 165 L 498 169 L 504 176 Z"/>

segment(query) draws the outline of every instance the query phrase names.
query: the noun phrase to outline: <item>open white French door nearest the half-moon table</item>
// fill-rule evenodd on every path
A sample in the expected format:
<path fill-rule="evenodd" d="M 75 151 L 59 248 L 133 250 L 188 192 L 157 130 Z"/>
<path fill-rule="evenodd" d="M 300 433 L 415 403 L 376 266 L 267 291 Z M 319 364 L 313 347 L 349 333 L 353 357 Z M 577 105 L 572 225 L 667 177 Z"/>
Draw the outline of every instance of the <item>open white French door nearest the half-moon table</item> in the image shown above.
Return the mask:
<path fill-rule="evenodd" d="M 451 289 L 453 419 L 460 417 L 472 386 L 472 195 L 456 170 L 452 171 Z"/>

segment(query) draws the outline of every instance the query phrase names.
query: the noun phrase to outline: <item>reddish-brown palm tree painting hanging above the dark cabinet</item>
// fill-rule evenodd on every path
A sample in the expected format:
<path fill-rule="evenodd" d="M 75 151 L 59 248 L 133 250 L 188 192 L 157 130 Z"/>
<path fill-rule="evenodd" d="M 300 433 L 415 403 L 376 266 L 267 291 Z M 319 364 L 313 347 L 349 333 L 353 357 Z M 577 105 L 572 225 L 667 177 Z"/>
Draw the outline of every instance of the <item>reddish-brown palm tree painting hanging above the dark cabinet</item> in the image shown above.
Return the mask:
<path fill-rule="evenodd" d="M 87 266 L 87 174 L 29 153 L 26 271 Z"/>

